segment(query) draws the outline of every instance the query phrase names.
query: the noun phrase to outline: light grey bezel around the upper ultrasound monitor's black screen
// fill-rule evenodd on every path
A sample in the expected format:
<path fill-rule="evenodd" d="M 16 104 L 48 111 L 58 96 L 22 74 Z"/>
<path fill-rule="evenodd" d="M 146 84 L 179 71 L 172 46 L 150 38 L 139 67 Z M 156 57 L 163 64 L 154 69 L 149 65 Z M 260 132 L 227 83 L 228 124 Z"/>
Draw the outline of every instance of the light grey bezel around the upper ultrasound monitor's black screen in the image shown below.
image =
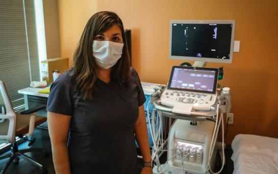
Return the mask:
<path fill-rule="evenodd" d="M 173 56 L 172 55 L 172 25 L 173 24 L 231 24 L 231 41 L 230 41 L 230 57 L 229 59 L 213 58 L 213 57 L 190 57 L 190 56 Z M 231 63 L 233 61 L 234 37 L 235 37 L 235 20 L 170 20 L 169 32 L 169 58 L 175 60 L 193 60 L 204 62 Z"/>

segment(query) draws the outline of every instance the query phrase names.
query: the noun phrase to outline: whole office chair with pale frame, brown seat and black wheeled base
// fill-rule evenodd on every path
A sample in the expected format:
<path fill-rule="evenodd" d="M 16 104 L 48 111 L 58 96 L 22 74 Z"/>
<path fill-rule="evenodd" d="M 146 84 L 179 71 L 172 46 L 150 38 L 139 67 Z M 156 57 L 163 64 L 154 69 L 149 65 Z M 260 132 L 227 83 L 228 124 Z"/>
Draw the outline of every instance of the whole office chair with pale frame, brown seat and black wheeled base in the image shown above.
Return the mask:
<path fill-rule="evenodd" d="M 5 84 L 0 80 L 0 107 L 3 108 L 2 106 L 4 106 L 5 112 L 0 112 L 4 113 L 0 114 L 0 140 L 5 140 L 8 143 L 12 143 L 12 147 L 11 153 L 0 156 L 0 160 L 9 158 L 0 174 L 5 173 L 12 161 L 15 164 L 18 164 L 19 156 L 38 166 L 42 173 L 47 173 L 47 170 L 41 164 L 25 155 L 25 153 L 31 151 L 42 151 L 44 155 L 47 156 L 48 152 L 45 150 L 45 148 L 28 148 L 19 150 L 15 141 L 16 136 L 31 136 L 35 126 L 47 121 L 46 117 L 38 117 L 35 116 L 35 114 L 30 114 L 42 109 L 45 107 L 45 105 L 21 113 L 15 113 L 13 111 Z"/>

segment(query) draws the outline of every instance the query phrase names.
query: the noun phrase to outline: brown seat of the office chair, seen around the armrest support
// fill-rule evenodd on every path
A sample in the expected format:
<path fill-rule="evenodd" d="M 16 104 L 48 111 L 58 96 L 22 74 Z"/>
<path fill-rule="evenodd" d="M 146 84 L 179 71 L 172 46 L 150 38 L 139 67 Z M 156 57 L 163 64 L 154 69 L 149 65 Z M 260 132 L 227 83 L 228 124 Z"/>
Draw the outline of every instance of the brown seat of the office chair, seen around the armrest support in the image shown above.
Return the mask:
<path fill-rule="evenodd" d="M 29 121 L 31 115 L 16 114 L 15 136 L 26 134 L 29 131 Z M 47 117 L 36 116 L 35 127 L 47 121 Z"/>

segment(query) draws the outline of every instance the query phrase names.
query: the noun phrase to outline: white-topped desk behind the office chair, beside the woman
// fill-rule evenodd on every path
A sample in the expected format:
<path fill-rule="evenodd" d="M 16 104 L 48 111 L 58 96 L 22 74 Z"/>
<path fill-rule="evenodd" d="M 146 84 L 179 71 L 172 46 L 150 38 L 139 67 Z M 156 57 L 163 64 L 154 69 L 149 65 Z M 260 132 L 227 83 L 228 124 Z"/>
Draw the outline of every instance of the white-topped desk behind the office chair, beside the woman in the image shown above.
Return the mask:
<path fill-rule="evenodd" d="M 37 105 L 41 105 L 41 104 L 47 105 L 49 94 L 38 93 L 39 91 L 45 90 L 47 88 L 50 88 L 50 86 L 46 88 L 28 87 L 25 89 L 18 90 L 19 94 L 24 95 L 25 110 L 28 110 L 29 108 L 32 107 L 36 107 Z M 45 111 L 45 109 L 39 110 L 36 112 L 36 115 L 41 117 L 47 117 L 47 111 Z M 42 123 L 40 126 L 43 128 L 48 127 L 47 122 Z"/>

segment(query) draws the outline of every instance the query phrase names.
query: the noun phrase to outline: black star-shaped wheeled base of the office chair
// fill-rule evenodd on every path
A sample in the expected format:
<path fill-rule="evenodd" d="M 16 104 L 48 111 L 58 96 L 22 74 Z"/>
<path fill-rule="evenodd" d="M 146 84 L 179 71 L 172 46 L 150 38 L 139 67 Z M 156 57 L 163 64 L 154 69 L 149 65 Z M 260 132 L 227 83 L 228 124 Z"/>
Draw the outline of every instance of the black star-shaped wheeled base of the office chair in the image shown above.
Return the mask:
<path fill-rule="evenodd" d="M 28 153 L 31 151 L 40 151 L 40 152 L 44 153 L 45 157 L 47 157 L 49 155 L 48 151 L 45 150 L 45 148 L 27 148 L 27 149 L 18 150 L 17 144 L 13 143 L 13 145 L 11 147 L 11 153 L 0 156 L 0 160 L 9 158 L 9 160 L 5 164 L 4 168 L 0 171 L 0 174 L 4 174 L 12 162 L 14 162 L 15 164 L 18 164 L 19 156 L 23 157 L 24 159 L 26 159 L 26 160 L 30 161 L 31 163 L 35 164 L 36 166 L 38 166 L 42 173 L 47 173 L 47 169 L 45 169 L 40 163 L 38 163 L 36 160 L 32 159 L 31 157 L 28 157 L 27 155 L 25 155 L 25 153 Z"/>

